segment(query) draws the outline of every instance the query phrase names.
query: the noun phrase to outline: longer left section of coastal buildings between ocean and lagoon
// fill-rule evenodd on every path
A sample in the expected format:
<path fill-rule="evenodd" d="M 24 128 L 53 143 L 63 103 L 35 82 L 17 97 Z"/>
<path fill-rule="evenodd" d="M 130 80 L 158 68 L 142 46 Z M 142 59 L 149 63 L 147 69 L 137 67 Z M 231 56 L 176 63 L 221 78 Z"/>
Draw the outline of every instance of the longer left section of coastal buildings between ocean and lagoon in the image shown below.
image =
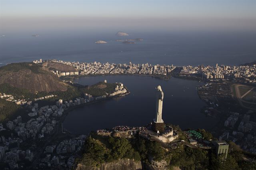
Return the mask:
<path fill-rule="evenodd" d="M 79 62 L 65 62 L 52 60 L 54 63 L 62 63 L 72 66 L 79 71 L 61 72 L 58 70 L 52 71 L 58 76 L 66 75 L 94 75 L 94 74 L 146 74 L 146 75 L 166 75 L 170 73 L 175 67 L 169 65 L 149 65 L 146 64 L 110 64 L 110 63 L 79 63 Z"/>

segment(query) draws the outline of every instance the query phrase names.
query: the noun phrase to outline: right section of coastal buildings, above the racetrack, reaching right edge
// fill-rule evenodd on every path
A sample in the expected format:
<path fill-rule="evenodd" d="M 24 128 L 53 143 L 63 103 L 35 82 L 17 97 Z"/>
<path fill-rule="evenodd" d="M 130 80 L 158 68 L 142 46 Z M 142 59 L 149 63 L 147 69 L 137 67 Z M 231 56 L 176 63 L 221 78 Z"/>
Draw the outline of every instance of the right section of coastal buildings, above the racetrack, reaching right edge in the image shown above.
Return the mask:
<path fill-rule="evenodd" d="M 227 66 L 216 64 L 215 67 L 199 65 L 183 66 L 180 75 L 201 74 L 205 79 L 241 79 L 243 82 L 256 83 L 256 65 Z"/>

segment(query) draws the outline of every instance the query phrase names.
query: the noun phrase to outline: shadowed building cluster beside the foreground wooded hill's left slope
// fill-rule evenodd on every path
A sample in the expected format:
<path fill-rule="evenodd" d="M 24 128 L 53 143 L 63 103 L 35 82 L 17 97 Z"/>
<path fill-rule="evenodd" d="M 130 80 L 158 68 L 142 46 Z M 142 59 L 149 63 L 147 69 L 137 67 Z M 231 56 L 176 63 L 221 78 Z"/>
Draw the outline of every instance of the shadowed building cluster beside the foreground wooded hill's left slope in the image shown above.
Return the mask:
<path fill-rule="evenodd" d="M 80 135 L 61 141 L 58 145 L 48 145 L 45 148 L 46 157 L 42 158 L 41 167 L 68 167 L 72 168 L 75 163 L 74 154 L 81 150 L 86 135 Z"/>

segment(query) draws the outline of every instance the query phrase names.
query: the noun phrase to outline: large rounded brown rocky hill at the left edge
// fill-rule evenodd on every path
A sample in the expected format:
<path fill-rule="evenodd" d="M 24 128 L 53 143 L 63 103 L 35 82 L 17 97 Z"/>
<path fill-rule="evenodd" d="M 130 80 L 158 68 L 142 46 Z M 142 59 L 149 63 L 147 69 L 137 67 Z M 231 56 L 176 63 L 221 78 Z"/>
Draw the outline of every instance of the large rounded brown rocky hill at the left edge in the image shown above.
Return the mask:
<path fill-rule="evenodd" d="M 66 91 L 67 85 L 49 71 L 35 63 L 11 63 L 0 68 L 0 84 L 27 89 L 31 92 Z"/>

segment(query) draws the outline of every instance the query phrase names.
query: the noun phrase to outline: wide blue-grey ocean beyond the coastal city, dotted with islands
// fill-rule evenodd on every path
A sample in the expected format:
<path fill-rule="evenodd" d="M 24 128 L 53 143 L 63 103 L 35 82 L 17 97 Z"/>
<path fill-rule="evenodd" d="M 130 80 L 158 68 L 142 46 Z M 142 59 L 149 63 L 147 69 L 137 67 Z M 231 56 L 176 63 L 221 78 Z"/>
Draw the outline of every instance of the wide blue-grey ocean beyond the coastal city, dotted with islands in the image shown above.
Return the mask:
<path fill-rule="evenodd" d="M 102 63 L 149 63 L 152 65 L 239 65 L 256 59 L 255 32 L 243 31 L 128 31 L 119 30 L 17 32 L 0 38 L 0 66 L 7 63 L 58 59 Z M 39 34 L 39 37 L 33 37 Z M 136 44 L 117 39 L 142 38 Z M 108 43 L 95 44 L 103 40 Z"/>

